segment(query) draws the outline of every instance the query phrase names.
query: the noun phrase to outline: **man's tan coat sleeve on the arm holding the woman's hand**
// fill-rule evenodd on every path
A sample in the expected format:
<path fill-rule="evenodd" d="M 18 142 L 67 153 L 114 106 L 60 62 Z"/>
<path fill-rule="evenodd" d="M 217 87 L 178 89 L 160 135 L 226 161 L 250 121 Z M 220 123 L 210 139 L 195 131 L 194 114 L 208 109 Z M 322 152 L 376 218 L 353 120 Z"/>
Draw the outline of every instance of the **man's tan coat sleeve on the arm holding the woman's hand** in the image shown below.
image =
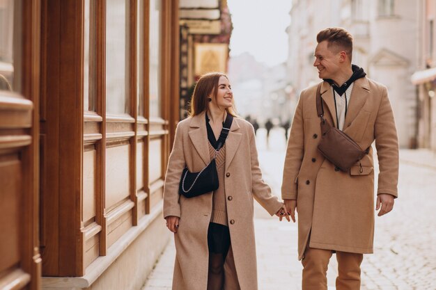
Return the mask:
<path fill-rule="evenodd" d="M 285 165 L 283 168 L 283 181 L 281 183 L 281 198 L 283 200 L 297 200 L 297 177 L 304 155 L 303 94 L 304 91 L 299 97 L 290 127 L 288 148 L 286 149 Z"/>

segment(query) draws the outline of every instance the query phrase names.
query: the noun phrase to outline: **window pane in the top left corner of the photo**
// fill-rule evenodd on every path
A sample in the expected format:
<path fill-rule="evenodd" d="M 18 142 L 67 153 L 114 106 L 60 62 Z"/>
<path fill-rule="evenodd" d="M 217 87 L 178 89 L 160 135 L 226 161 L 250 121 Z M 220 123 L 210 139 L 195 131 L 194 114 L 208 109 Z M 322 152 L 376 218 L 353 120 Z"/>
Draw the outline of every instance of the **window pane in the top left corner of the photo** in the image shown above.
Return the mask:
<path fill-rule="evenodd" d="M 21 15 L 21 0 L 0 0 L 0 90 L 21 92 Z"/>

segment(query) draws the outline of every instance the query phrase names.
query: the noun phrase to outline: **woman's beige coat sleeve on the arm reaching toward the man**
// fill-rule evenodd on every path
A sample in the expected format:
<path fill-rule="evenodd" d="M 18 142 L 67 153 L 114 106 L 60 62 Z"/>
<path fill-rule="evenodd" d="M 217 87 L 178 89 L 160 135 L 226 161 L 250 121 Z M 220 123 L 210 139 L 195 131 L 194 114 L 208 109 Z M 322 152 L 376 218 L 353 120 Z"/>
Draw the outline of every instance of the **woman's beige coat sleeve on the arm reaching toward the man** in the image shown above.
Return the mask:
<path fill-rule="evenodd" d="M 259 167 L 258 152 L 256 148 L 256 139 L 254 129 L 252 126 L 249 128 L 250 138 L 250 154 L 251 154 L 251 178 L 252 190 L 254 199 L 273 216 L 283 206 L 276 195 L 272 195 L 271 188 L 263 181 L 262 171 Z"/>

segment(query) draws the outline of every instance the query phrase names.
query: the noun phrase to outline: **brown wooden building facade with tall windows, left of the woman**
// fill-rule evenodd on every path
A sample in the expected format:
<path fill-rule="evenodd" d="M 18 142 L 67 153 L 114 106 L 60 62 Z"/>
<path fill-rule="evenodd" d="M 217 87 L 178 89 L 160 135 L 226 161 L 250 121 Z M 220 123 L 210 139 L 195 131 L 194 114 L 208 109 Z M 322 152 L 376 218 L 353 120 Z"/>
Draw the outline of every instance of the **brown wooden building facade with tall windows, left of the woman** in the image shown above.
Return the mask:
<path fill-rule="evenodd" d="M 178 47 L 178 1 L 0 0 L 0 289 L 141 287 Z"/>

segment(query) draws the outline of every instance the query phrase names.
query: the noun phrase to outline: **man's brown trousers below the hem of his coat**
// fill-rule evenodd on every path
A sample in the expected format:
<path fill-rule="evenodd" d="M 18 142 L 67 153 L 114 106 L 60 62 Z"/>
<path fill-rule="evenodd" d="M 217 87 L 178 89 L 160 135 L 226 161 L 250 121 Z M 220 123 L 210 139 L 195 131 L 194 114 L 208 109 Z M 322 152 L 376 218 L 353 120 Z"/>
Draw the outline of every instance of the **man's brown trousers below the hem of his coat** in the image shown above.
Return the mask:
<path fill-rule="evenodd" d="M 306 248 L 304 252 L 302 290 L 327 290 L 327 268 L 332 250 Z M 360 289 L 360 264 L 364 255 L 336 252 L 338 277 L 336 290 Z"/>

